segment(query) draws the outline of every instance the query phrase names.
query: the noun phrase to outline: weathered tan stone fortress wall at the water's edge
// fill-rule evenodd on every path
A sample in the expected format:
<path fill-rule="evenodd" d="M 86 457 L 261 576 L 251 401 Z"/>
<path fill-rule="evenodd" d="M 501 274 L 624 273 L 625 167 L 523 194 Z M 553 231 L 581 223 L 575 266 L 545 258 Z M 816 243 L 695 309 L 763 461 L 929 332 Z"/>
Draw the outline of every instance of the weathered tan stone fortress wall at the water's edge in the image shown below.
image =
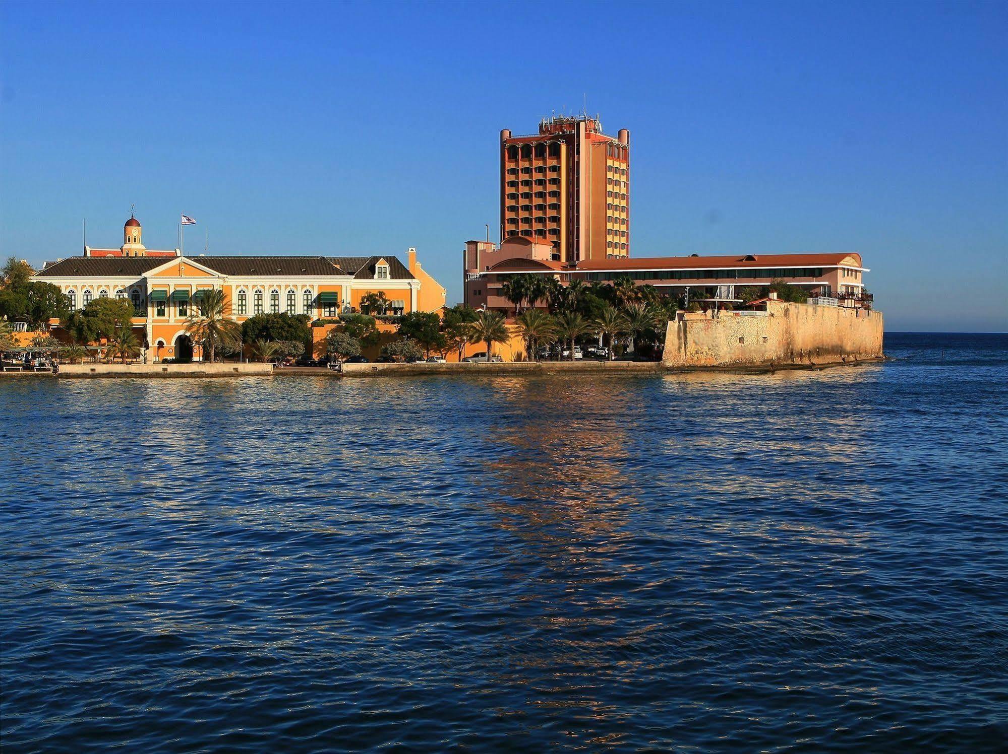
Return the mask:
<path fill-rule="evenodd" d="M 767 312 L 680 313 L 665 332 L 665 366 L 831 363 L 882 355 L 882 314 L 768 302 Z"/>

